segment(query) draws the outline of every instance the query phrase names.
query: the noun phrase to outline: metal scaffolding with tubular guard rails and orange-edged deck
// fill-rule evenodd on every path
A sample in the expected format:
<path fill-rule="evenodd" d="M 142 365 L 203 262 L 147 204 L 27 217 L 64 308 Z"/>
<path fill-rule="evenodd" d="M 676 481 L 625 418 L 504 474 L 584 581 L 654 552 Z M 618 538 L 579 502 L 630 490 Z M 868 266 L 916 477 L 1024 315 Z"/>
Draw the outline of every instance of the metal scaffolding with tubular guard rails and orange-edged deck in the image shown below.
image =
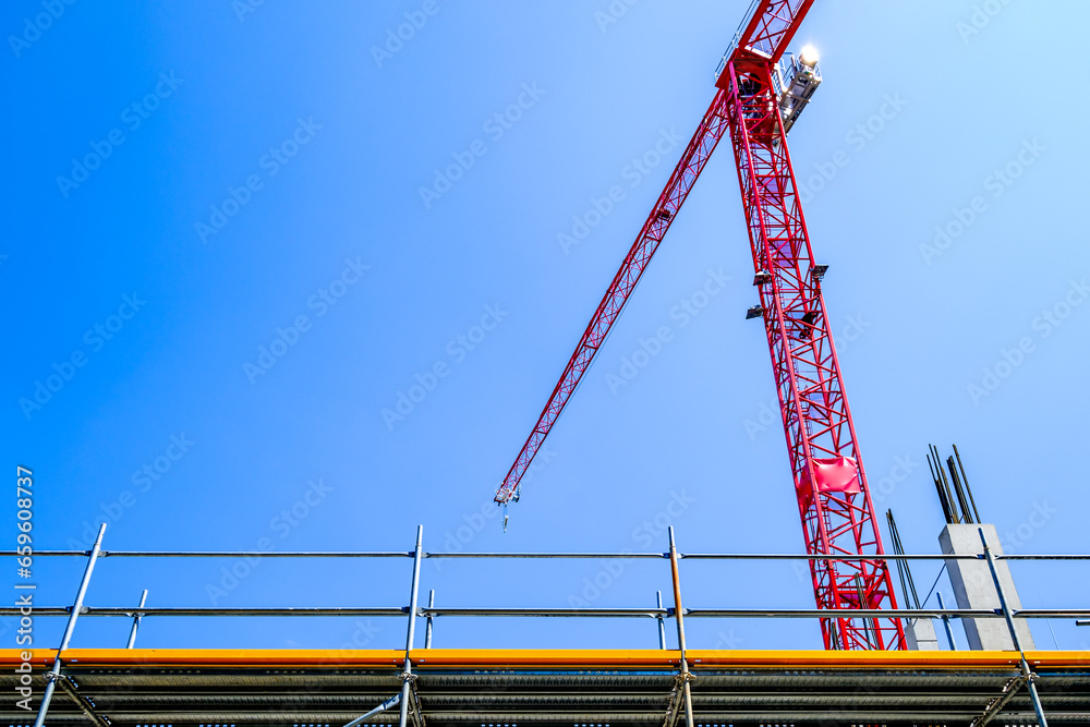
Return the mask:
<path fill-rule="evenodd" d="M 663 553 L 428 553 L 423 547 L 423 526 L 416 531 L 412 550 L 390 552 L 144 552 L 105 550 L 101 547 L 106 526 L 89 550 L 39 550 L 38 557 L 84 557 L 86 567 L 71 606 L 34 607 L 33 615 L 66 617 L 68 621 L 56 651 L 36 650 L 34 686 L 41 687 L 36 727 L 45 724 L 88 723 L 104 727 L 111 724 L 344 724 L 393 723 L 400 727 L 424 727 L 434 723 L 473 722 L 485 725 L 513 725 L 518 720 L 549 724 L 645 724 L 658 722 L 674 727 L 683 717 L 687 727 L 697 724 L 768 724 L 768 720 L 824 722 L 828 724 L 927 724 L 971 723 L 982 727 L 998 717 L 1006 720 L 1032 720 L 1045 727 L 1047 720 L 1090 722 L 1090 653 L 1025 652 L 1015 631 L 1019 618 L 1090 617 L 1090 609 L 1012 608 L 996 577 L 998 560 L 1090 560 L 1088 555 L 994 555 L 980 531 L 983 555 L 868 555 L 828 556 L 792 554 L 679 553 L 674 530 L 669 529 L 668 549 Z M 3 552 L 12 556 L 14 552 Z M 100 558 L 404 558 L 412 571 L 408 604 L 404 606 L 365 607 L 149 607 L 147 592 L 136 607 L 86 606 L 84 598 Z M 784 609 L 685 607 L 681 598 L 680 560 L 913 560 L 974 559 L 988 562 L 1001 607 L 898 608 L 898 609 Z M 469 559 L 611 559 L 640 558 L 669 562 L 673 606 L 664 606 L 662 591 L 655 607 L 569 607 L 498 608 L 487 606 L 437 607 L 434 591 L 426 606 L 420 605 L 421 564 L 431 558 Z M 666 589 L 664 589 L 666 590 Z M 21 609 L 0 608 L 0 616 L 20 616 Z M 25 615 L 25 613 L 23 613 Z M 223 652 L 217 650 L 137 650 L 135 642 L 141 620 L 148 617 L 404 617 L 403 650 L 360 651 L 346 655 L 332 652 Z M 124 650 L 71 650 L 70 642 L 81 617 L 124 617 L 132 627 Z M 571 617 L 637 618 L 655 626 L 658 650 L 633 651 L 481 651 L 432 649 L 433 625 L 440 617 Z M 1016 650 L 1013 652 L 777 652 L 777 651 L 693 651 L 687 647 L 687 618 L 983 618 L 1004 619 Z M 414 646 L 417 619 L 424 619 L 424 650 Z M 666 621 L 677 629 L 678 649 L 666 647 Z M 17 651 L 0 652 L 0 661 L 17 664 Z M 277 699 L 272 682 L 263 682 L 262 671 L 269 665 L 290 666 L 296 688 L 310 683 L 336 682 L 338 688 L 319 687 L 308 706 L 320 710 L 296 712 L 255 711 L 255 704 Z M 194 681 L 192 667 L 204 675 Z M 160 676 L 146 678 L 149 666 Z M 803 676 L 798 668 L 804 667 Z M 48 667 L 48 670 L 46 668 Z M 106 668 L 109 667 L 109 668 Z M 189 667 L 189 668 L 186 668 Z M 577 667 L 572 669 L 572 667 Z M 845 671 L 845 669 L 853 669 Z M 204 669 L 202 671 L 202 669 Z M 242 669 L 242 671 L 240 671 Z M 276 669 L 277 674 L 281 670 Z M 104 674 L 113 675 L 104 677 Z M 247 674 L 242 681 L 240 675 Z M 545 678 L 542 675 L 550 675 Z M 142 676 L 144 675 L 144 676 Z M 474 676 L 475 675 L 475 676 Z M 513 675 L 513 676 L 512 676 Z M 794 676 L 792 676 L 794 675 Z M 809 676 L 804 676 L 809 675 Z M 853 676 L 851 676 L 853 675 Z M 269 676 L 269 675 L 265 675 Z M 550 681 L 552 679 L 552 681 Z M 451 681 L 453 680 L 453 681 Z M 459 681 L 460 680 L 460 681 Z M 645 682 L 661 690 L 658 699 L 647 692 Z M 267 681 L 267 680 L 266 680 Z M 289 680 L 290 681 L 290 680 Z M 855 681 L 877 690 L 860 701 Z M 142 694 L 133 684 L 148 682 L 154 694 Z M 457 682 L 457 683 L 456 683 Z M 510 683 L 508 683 L 510 682 Z M 540 682 L 540 683 L 538 683 Z M 425 692 L 434 683 L 439 692 Z M 1044 696 L 1038 693 L 1042 684 Z M 252 684 L 253 691 L 240 684 Z M 460 687 L 458 686 L 460 684 Z M 500 693 L 494 693 L 497 684 Z M 552 686 L 549 686 L 552 684 Z M 764 684 L 764 695 L 753 693 Z M 886 684 L 882 687 L 882 684 Z M 960 684 L 957 686 L 957 684 Z M 818 690 L 815 691 L 815 686 Z M 978 690 L 979 693 L 966 692 Z M 457 687 L 457 689 L 456 689 Z M 59 711 L 50 714 L 56 689 L 68 698 Z M 128 696 L 119 690 L 128 689 Z M 392 688 L 392 689 L 391 689 Z M 770 692 L 768 689 L 772 689 Z M 1024 689 L 1025 688 L 1025 689 Z M 529 690 L 518 699 L 519 690 Z M 595 691 L 593 698 L 588 689 Z M 840 689 L 847 689 L 840 693 Z M 921 691 L 923 689 L 923 691 Z M 104 691 L 105 690 L 105 691 Z M 231 696 L 221 693 L 231 691 Z M 385 690 L 385 693 L 384 693 Z M 461 696 L 451 692 L 459 692 Z M 468 690 L 468 691 L 467 691 Z M 759 690 L 760 691 L 760 690 Z M 901 693 L 904 692 L 904 693 Z M 521 693 L 521 692 L 519 692 Z M 216 696 L 220 694 L 220 696 Z M 323 696 L 329 699 L 323 701 Z M 422 696 L 424 694 L 424 696 Z M 475 696 L 474 696 L 475 694 Z M 893 696 L 889 696 L 893 694 Z M 899 694 L 899 695 L 898 695 Z M 202 696 L 204 695 L 204 696 Z M 1052 695 L 1055 708 L 1045 716 L 1045 702 Z M 155 699 L 152 699 L 152 698 Z M 131 699 L 130 699 L 131 698 Z M 874 698 L 874 699 L 871 699 Z M 985 699 L 986 698 L 986 699 Z M 126 701 L 128 700 L 128 701 Z M 143 700 L 143 701 L 142 701 Z M 218 700 L 218 701 L 217 701 Z M 513 701 L 512 701 L 513 700 Z M 855 700 L 855 701 L 853 701 Z M 208 711 L 202 704 L 216 704 Z M 355 711 L 346 710 L 351 703 Z M 104 704 L 119 705 L 104 711 Z M 148 711 L 159 704 L 159 716 Z M 453 706 L 450 706 L 453 705 Z M 304 705 L 305 706 L 305 705 Z M 822 708 L 815 708 L 821 706 Z M 1027 713 L 1026 707 L 1032 707 Z M 398 715 L 387 711 L 398 708 Z M 554 708 L 555 707 L 555 708 Z M 562 707 L 562 708 L 560 708 Z M 570 708 L 569 708 L 570 707 Z M 979 708 L 977 708 L 979 707 Z M 558 711 L 559 710 L 559 711 Z M 351 714 L 349 714 L 352 712 Z M 164 716 L 166 715 L 166 716 Z M 562 715 L 552 717 L 549 715 Z M 8 724 L 25 724 L 17 712 L 0 708 Z M 574 722 L 569 720 L 573 719 Z M 653 717 L 653 718 L 652 718 Z"/>

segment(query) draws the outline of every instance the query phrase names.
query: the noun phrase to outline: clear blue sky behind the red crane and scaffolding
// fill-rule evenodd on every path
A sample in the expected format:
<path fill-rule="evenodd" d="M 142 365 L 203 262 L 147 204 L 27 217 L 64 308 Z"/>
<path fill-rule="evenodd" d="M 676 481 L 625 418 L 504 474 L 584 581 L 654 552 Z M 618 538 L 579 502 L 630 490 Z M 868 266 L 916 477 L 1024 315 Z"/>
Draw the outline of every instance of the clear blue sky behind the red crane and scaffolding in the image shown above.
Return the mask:
<path fill-rule="evenodd" d="M 489 505 L 744 5 L 7 3 L 2 441 L 12 470 L 34 471 L 35 545 L 86 547 L 107 520 L 108 549 L 409 549 L 422 523 L 428 550 L 661 552 L 669 522 L 682 552 L 800 552 L 768 354 L 743 319 L 755 299 L 726 147 L 507 534 Z M 1008 550 L 1087 552 L 1088 159 L 1073 125 L 1090 109 L 1069 86 L 1088 13 L 819 0 L 796 40 L 820 49 L 825 81 L 792 159 L 872 488 L 885 478 L 877 507 L 910 552 L 937 552 L 943 524 L 929 443 L 958 444 Z M 564 244 L 580 218 L 596 223 Z M 728 277 L 699 315 L 671 316 Z M 664 326 L 661 351 L 610 386 Z M 82 565 L 38 561 L 39 602 L 70 603 Z M 919 567 L 917 584 L 936 573 Z M 1077 564 L 1016 577 L 1027 605 L 1090 595 Z M 688 606 L 812 603 L 789 565 L 687 562 L 682 579 Z M 88 603 L 146 587 L 155 606 L 401 605 L 408 585 L 408 560 L 107 559 Z M 459 606 L 651 605 L 668 586 L 659 561 L 423 570 Z M 1088 641 L 1053 629 L 1062 647 Z M 126 630 L 86 619 L 73 643 L 123 645 Z M 691 647 L 820 647 L 803 621 L 689 631 Z M 403 633 L 149 619 L 141 643 L 396 647 Z M 655 643 L 642 621 L 440 619 L 435 645 Z"/>

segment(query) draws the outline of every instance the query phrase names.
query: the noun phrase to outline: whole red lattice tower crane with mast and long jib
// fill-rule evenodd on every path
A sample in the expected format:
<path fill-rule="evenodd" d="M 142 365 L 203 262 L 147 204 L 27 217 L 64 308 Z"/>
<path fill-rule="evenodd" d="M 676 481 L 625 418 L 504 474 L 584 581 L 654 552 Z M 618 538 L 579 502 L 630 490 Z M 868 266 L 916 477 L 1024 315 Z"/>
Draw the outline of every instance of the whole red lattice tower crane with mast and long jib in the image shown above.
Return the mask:
<path fill-rule="evenodd" d="M 814 262 L 787 130 L 820 83 L 816 59 L 786 48 L 813 0 L 755 0 L 716 73 L 716 94 L 662 196 L 586 326 L 537 424 L 496 493 L 506 505 L 620 315 L 663 237 L 716 145 L 729 129 L 753 254 L 753 284 L 768 337 L 795 493 L 819 608 L 896 608 L 840 365 L 828 328 L 822 277 Z M 899 619 L 824 618 L 826 649 L 905 647 Z"/>

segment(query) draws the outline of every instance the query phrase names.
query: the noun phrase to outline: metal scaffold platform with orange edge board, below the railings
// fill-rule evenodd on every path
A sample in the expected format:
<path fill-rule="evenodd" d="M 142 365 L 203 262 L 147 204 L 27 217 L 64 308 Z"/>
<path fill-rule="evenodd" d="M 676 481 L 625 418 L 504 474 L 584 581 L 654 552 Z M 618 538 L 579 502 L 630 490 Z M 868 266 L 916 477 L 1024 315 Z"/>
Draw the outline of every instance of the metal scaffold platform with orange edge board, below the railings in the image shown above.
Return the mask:
<path fill-rule="evenodd" d="M 34 652 L 40 695 L 55 651 Z M 414 650 L 419 715 L 439 725 L 663 725 L 680 652 Z M 1090 723 L 1090 652 L 1026 652 L 1052 724 Z M 20 652 L 0 652 L 13 694 Z M 403 651 L 68 650 L 48 724 L 340 727 L 402 687 Z M 1018 652 L 688 652 L 698 725 L 1036 724 Z M 1002 708 L 994 707 L 1013 692 Z M 17 698 L 15 698 L 17 699 Z M 5 700 L 4 725 L 34 712 Z M 417 722 L 419 720 L 419 722 Z M 396 708 L 367 719 L 398 722 Z M 978 722 L 978 724 L 980 724 Z"/>

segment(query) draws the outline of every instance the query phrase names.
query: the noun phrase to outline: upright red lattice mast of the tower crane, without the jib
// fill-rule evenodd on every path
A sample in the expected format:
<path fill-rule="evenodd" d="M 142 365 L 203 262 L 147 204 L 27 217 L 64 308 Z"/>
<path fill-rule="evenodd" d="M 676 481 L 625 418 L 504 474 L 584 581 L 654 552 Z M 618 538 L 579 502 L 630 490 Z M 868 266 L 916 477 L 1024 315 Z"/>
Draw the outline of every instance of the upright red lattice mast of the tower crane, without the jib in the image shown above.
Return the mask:
<path fill-rule="evenodd" d="M 738 182 L 772 353 L 807 552 L 882 555 L 882 541 L 828 330 L 772 65 L 731 61 L 728 87 Z M 811 560 L 820 608 L 896 608 L 884 560 Z M 823 619 L 827 649 L 903 649 L 899 619 Z"/>

